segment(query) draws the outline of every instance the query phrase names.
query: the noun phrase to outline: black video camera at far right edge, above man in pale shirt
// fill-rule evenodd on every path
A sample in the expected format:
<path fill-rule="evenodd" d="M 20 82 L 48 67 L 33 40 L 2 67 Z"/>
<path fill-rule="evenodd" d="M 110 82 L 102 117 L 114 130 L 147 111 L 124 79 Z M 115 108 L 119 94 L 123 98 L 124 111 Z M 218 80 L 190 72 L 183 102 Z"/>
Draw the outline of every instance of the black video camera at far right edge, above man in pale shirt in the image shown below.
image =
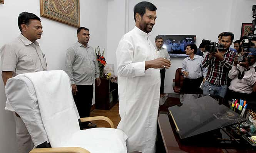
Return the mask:
<path fill-rule="evenodd" d="M 254 34 L 255 31 L 255 25 L 256 25 L 256 5 L 253 5 L 253 26 L 250 28 L 251 31 L 253 31 L 252 34 L 248 34 L 248 36 L 242 37 L 242 45 L 243 47 L 243 55 L 238 56 L 239 62 L 245 62 L 245 58 L 249 54 L 250 47 L 254 46 L 254 44 L 251 41 L 256 41 L 256 34 Z"/>

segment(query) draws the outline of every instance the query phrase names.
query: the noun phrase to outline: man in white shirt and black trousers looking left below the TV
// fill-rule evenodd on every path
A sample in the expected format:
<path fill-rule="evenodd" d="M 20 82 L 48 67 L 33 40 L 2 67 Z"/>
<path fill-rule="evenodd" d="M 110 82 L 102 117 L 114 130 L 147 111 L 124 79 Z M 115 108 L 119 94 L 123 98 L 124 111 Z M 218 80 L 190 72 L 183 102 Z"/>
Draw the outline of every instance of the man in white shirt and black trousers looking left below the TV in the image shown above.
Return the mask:
<path fill-rule="evenodd" d="M 181 73 L 184 75 L 184 82 L 181 93 L 202 93 L 200 85 L 206 76 L 207 68 L 202 68 L 204 58 L 196 55 L 197 46 L 189 44 L 186 54 L 189 55 L 182 61 Z"/>

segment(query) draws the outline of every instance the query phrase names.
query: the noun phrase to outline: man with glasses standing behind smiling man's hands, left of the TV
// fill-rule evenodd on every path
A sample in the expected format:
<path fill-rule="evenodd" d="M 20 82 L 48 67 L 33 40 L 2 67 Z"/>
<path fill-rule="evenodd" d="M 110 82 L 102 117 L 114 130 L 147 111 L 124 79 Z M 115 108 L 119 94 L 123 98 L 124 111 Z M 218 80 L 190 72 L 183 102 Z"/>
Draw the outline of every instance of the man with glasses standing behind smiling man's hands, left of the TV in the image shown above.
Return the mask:
<path fill-rule="evenodd" d="M 161 36 L 156 36 L 155 40 L 156 46 L 155 49 L 159 52 L 159 57 L 165 58 L 167 60 L 170 60 L 170 55 L 167 52 L 165 48 L 163 48 L 164 39 Z M 160 86 L 160 94 L 162 95 L 164 93 L 164 78 L 165 78 L 165 68 L 160 68 L 160 75 L 161 75 L 161 86 Z"/>

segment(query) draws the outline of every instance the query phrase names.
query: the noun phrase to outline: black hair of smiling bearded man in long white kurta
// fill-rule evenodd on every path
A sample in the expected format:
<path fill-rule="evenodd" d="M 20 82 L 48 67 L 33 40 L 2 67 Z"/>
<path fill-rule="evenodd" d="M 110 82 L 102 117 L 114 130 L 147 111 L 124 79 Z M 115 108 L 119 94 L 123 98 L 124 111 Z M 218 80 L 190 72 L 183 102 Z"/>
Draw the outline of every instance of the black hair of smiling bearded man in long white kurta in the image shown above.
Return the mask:
<path fill-rule="evenodd" d="M 156 6 L 150 2 L 139 2 L 133 8 L 134 21 L 136 21 L 136 17 L 135 17 L 136 13 L 139 13 L 139 15 L 143 16 L 146 12 L 146 9 L 148 9 L 149 11 L 157 10 Z"/>

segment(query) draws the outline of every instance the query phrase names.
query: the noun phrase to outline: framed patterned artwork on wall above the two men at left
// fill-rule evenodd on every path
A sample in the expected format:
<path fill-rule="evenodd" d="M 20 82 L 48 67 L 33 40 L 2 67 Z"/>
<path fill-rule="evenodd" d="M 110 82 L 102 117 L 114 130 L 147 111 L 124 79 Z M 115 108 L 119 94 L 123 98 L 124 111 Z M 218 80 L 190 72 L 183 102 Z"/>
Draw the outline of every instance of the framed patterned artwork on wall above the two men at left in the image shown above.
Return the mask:
<path fill-rule="evenodd" d="M 40 0 L 40 15 L 80 27 L 79 0 Z"/>

